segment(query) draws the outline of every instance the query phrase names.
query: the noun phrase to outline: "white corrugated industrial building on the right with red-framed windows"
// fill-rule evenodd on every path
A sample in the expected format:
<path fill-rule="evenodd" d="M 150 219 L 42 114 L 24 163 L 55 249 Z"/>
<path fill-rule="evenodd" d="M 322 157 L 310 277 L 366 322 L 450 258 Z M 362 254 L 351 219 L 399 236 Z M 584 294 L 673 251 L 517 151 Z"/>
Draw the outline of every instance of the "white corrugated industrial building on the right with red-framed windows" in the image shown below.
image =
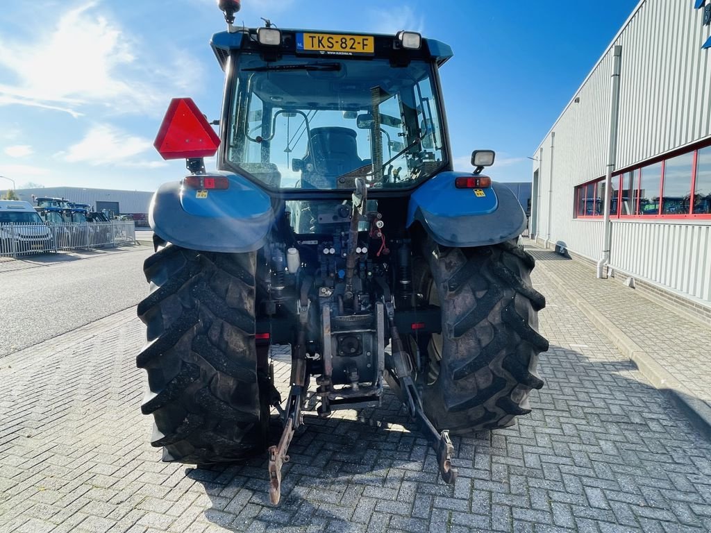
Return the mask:
<path fill-rule="evenodd" d="M 589 259 L 598 277 L 634 279 L 704 318 L 710 34 L 711 0 L 636 6 L 532 154 L 530 220 L 539 243 Z"/>

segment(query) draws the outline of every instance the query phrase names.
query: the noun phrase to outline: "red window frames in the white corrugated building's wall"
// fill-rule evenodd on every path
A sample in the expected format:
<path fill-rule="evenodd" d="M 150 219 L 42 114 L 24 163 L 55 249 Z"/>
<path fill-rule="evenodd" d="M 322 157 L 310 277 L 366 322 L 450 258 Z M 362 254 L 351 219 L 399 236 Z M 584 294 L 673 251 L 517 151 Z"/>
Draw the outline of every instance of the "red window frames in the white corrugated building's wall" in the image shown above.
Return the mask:
<path fill-rule="evenodd" d="M 634 166 L 630 166 L 627 168 L 624 168 L 621 171 L 618 171 L 614 173 L 612 176 L 612 183 L 616 183 L 617 185 L 617 209 L 615 212 L 610 212 L 610 217 L 616 217 L 621 220 L 629 220 L 629 219 L 635 219 L 635 220 L 657 220 L 660 218 L 663 218 L 664 220 L 685 220 L 685 219 L 702 219 L 702 220 L 710 220 L 711 219 L 711 213 L 694 213 L 694 195 L 696 194 L 696 178 L 697 178 L 697 171 L 698 171 L 698 163 L 699 163 L 699 151 L 702 149 L 707 148 L 708 146 L 711 146 L 711 142 L 706 140 L 703 144 L 697 144 L 696 146 L 693 147 L 693 149 L 682 149 L 678 150 L 675 152 L 672 152 L 670 154 L 667 154 L 666 156 L 660 157 L 660 158 L 654 158 L 649 161 L 645 161 L 644 163 L 638 163 Z M 690 176 L 690 185 L 691 185 L 691 197 L 689 199 L 689 211 L 687 213 L 679 214 L 679 213 L 674 213 L 673 215 L 667 214 L 663 215 L 662 214 L 662 209 L 664 205 L 664 179 L 666 175 L 666 162 L 672 158 L 675 158 L 676 156 L 680 156 L 683 154 L 693 154 L 693 163 L 691 166 L 691 176 Z M 640 204 L 640 198 L 641 198 L 641 186 L 642 186 L 642 171 L 643 168 L 647 166 L 652 166 L 656 163 L 661 163 L 661 176 L 659 180 L 659 205 L 657 208 L 657 213 L 656 215 L 641 215 L 639 213 L 639 204 Z M 634 208 L 632 210 L 633 214 L 632 215 L 623 215 L 622 214 L 622 191 L 624 187 L 624 176 L 627 173 L 632 173 L 632 183 L 631 186 L 632 188 L 630 191 L 634 190 L 634 193 L 636 195 L 636 198 L 631 198 L 630 200 L 634 202 Z M 587 220 L 587 219 L 600 219 L 603 217 L 603 215 L 586 215 L 585 213 L 587 212 L 587 187 L 588 185 L 594 184 L 594 198 L 597 198 L 597 190 L 599 183 L 602 183 L 605 178 L 595 178 L 594 180 L 586 181 L 585 183 L 581 183 L 580 185 L 576 185 L 574 188 L 574 200 L 575 200 L 575 206 L 574 206 L 574 212 L 573 212 L 573 217 L 574 218 L 579 218 L 582 220 Z M 615 182 L 616 180 L 616 182 Z M 582 197 L 581 197 L 582 195 Z M 580 207 L 580 198 L 583 198 L 583 212 L 582 214 L 579 212 L 579 207 Z M 603 199 L 604 201 L 604 199 Z M 593 206 L 593 212 L 594 212 L 595 206 Z"/>

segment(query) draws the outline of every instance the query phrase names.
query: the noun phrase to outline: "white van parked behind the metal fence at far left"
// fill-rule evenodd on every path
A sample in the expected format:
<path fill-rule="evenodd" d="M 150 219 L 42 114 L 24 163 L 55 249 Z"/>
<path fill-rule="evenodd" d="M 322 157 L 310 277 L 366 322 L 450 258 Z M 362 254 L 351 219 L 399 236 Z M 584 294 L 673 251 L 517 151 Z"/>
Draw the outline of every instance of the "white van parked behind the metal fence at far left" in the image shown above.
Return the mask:
<path fill-rule="evenodd" d="M 28 202 L 0 200 L 0 253 L 48 252 L 52 232 Z"/>

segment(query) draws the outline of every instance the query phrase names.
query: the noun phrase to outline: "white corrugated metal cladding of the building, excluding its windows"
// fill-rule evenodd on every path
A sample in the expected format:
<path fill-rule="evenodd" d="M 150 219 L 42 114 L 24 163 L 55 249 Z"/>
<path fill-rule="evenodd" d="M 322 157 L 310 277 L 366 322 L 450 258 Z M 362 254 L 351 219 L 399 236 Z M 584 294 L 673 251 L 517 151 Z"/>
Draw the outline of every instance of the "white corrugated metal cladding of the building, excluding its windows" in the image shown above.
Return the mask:
<path fill-rule="evenodd" d="M 642 1 L 572 96 L 533 155 L 539 239 L 602 254 L 602 220 L 574 219 L 574 187 L 605 174 L 614 45 L 622 46 L 616 168 L 711 136 L 711 50 L 701 48 L 711 31 L 702 11 L 686 0 Z M 711 220 L 614 220 L 612 237 L 614 266 L 711 303 Z"/>

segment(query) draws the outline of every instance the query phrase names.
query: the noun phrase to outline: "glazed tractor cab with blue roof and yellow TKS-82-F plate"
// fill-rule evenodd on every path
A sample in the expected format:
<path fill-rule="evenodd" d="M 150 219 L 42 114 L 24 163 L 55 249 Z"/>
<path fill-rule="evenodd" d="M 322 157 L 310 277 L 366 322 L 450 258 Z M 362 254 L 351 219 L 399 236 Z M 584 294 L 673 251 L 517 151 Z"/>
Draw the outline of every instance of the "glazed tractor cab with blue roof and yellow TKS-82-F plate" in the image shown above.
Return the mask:
<path fill-rule="evenodd" d="M 228 72 L 223 168 L 269 190 L 349 193 L 359 176 L 402 190 L 451 168 L 437 75 L 447 45 L 267 27 L 212 46 Z"/>

